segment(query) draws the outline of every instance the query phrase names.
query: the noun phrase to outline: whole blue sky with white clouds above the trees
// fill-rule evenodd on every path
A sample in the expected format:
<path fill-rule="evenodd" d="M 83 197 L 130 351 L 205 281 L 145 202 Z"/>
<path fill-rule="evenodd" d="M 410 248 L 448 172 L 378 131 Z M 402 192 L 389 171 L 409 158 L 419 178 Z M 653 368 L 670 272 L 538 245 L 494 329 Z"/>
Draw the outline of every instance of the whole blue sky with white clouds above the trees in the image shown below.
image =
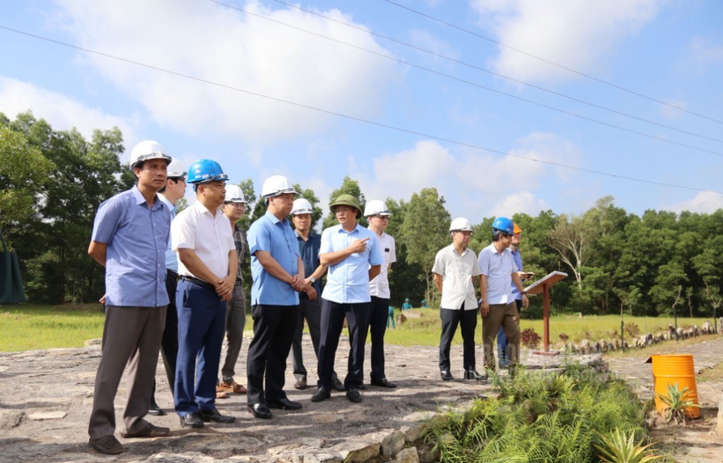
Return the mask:
<path fill-rule="evenodd" d="M 367 199 L 436 187 L 473 223 L 578 214 L 608 194 L 636 214 L 723 207 L 721 2 L 395 2 L 469 32 L 384 0 L 2 2 L 2 27 L 226 87 L 0 28 L 0 111 L 88 137 L 119 126 L 128 152 L 156 139 L 257 191 L 286 175 L 323 205 L 350 176 Z"/>

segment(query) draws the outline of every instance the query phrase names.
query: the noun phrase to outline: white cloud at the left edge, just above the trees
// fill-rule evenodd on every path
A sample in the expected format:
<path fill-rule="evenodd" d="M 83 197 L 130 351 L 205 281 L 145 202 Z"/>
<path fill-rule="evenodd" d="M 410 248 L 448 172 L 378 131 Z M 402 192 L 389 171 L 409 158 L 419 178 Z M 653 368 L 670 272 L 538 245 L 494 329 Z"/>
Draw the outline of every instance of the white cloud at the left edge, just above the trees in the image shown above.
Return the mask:
<path fill-rule="evenodd" d="M 18 113 L 29 110 L 33 111 L 35 118 L 48 121 L 54 130 L 69 130 L 75 127 L 83 137 L 90 139 L 93 137 L 93 129 L 107 130 L 118 126 L 126 142 L 135 141 L 135 124 L 127 118 L 88 108 L 60 92 L 0 76 L 0 111 L 14 119 Z"/>

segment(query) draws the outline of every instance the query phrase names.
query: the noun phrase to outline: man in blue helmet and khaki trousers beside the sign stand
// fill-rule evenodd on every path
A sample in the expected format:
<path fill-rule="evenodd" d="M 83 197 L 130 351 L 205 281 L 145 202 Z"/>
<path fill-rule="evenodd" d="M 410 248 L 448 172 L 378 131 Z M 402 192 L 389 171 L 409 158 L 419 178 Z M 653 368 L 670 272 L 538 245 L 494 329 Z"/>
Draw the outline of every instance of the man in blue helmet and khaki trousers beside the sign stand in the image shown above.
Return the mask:
<path fill-rule="evenodd" d="M 529 300 L 522 287 L 522 280 L 515 259 L 510 252 L 514 224 L 507 217 L 498 217 L 492 222 L 492 244 L 479 253 L 479 268 L 482 282 L 479 292 L 482 297 L 482 345 L 484 347 L 484 368 L 495 369 L 495 355 L 492 346 L 497 331 L 502 326 L 509 341 L 509 368 L 518 363 L 520 352 L 520 314 L 517 311 L 511 285 L 514 283 L 522 294 L 522 307 L 529 306 Z"/>

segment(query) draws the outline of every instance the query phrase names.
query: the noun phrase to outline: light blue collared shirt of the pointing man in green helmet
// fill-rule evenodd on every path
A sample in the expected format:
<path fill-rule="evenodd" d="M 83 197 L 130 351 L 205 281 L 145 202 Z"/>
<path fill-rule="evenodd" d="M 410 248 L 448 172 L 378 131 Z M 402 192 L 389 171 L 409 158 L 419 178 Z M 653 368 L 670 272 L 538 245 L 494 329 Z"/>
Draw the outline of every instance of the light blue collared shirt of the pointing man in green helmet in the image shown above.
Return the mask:
<path fill-rule="evenodd" d="M 319 254 L 341 251 L 348 248 L 352 241 L 364 238 L 369 238 L 369 241 L 363 252 L 355 252 L 329 267 L 322 298 L 348 304 L 372 300 L 369 296 L 369 266 L 384 263 L 376 233 L 358 223 L 351 232 L 344 230 L 341 225 L 334 225 L 322 232 Z"/>

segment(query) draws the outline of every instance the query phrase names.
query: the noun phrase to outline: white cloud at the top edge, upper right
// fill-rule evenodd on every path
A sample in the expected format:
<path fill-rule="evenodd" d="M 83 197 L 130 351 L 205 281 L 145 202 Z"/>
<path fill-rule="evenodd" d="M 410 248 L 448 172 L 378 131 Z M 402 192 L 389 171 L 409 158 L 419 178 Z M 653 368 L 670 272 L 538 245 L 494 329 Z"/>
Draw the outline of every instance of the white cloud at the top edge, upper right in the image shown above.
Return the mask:
<path fill-rule="evenodd" d="M 618 41 L 651 21 L 659 0 L 470 0 L 497 40 L 534 56 L 597 73 Z M 515 79 L 555 81 L 576 74 L 500 47 L 496 72 Z"/>

